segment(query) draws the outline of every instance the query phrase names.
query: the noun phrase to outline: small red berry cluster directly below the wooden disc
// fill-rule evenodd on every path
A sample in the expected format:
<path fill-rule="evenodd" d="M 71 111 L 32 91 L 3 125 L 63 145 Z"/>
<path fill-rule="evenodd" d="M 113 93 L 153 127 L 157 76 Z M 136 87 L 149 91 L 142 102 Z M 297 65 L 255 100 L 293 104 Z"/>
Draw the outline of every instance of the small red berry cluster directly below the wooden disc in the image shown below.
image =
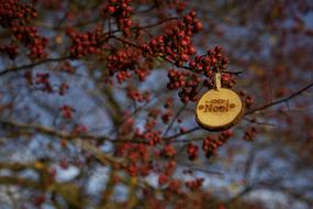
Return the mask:
<path fill-rule="evenodd" d="M 219 138 L 206 136 L 203 140 L 202 150 L 205 152 L 205 156 L 209 158 L 214 155 L 220 146 L 228 141 L 228 139 L 233 135 L 231 130 L 222 131 Z"/>

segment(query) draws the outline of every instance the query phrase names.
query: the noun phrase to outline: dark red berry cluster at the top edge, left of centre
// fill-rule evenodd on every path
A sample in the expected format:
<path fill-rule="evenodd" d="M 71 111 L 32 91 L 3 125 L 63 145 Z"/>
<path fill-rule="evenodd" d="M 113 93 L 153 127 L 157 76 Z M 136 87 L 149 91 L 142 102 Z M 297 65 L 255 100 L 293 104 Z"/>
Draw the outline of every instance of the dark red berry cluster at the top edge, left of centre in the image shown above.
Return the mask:
<path fill-rule="evenodd" d="M 109 0 L 109 3 L 102 10 L 104 18 L 113 16 L 120 30 L 124 35 L 130 35 L 133 22 L 131 16 L 133 14 L 132 0 Z"/>

